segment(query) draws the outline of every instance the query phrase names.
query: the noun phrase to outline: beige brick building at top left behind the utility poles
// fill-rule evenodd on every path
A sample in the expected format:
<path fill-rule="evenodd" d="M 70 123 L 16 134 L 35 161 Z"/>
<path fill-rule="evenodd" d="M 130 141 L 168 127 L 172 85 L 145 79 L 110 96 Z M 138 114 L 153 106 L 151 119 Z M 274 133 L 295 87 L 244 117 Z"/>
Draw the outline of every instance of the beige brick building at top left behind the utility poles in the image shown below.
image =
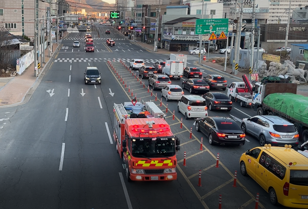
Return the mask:
<path fill-rule="evenodd" d="M 1 0 L 0 22 L 11 34 L 30 38 L 34 37 L 35 0 Z M 47 6 L 44 2 L 36 0 L 39 18 L 46 17 Z"/>

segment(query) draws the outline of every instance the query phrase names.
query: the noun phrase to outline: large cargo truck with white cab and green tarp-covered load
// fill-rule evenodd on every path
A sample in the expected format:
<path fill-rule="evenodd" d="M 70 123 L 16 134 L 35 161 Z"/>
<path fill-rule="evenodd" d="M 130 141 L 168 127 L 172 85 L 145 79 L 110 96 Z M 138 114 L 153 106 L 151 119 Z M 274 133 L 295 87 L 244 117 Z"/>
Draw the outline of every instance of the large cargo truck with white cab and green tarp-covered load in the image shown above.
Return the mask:
<path fill-rule="evenodd" d="M 251 108 L 257 115 L 280 116 L 293 123 L 303 142 L 308 140 L 308 97 L 297 95 L 297 84 L 267 77 L 253 83 Z"/>

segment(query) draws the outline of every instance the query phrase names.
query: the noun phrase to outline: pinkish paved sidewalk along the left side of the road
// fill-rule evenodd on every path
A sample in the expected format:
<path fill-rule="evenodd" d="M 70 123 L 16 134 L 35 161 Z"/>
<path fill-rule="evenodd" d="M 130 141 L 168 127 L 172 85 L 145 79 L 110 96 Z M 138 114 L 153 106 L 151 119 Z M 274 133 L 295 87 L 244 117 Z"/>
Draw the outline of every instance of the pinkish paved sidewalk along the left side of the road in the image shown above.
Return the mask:
<path fill-rule="evenodd" d="M 54 53 L 56 52 L 58 45 L 53 44 Z M 45 49 L 45 62 L 40 70 L 43 72 L 44 66 L 51 57 L 48 57 L 48 48 Z M 34 77 L 34 62 L 20 75 L 16 77 L 10 77 L 12 80 L 6 83 L 6 85 L 0 90 L 0 107 L 8 105 L 17 105 L 21 103 L 30 89 L 34 86 L 34 83 L 38 80 L 38 77 Z M 4 82 L 8 78 L 0 78 L 0 82 Z"/>

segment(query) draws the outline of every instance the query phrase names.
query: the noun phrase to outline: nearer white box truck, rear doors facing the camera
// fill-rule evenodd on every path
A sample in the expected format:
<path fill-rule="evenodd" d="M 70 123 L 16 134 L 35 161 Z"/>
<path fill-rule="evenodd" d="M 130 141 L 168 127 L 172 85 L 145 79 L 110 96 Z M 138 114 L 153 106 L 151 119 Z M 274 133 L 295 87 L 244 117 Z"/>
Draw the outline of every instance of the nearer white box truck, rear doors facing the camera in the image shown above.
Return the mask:
<path fill-rule="evenodd" d="M 183 77 L 184 62 L 178 60 L 166 60 L 162 72 L 169 76 L 169 78 L 177 78 L 177 80 L 180 80 L 181 77 Z"/>

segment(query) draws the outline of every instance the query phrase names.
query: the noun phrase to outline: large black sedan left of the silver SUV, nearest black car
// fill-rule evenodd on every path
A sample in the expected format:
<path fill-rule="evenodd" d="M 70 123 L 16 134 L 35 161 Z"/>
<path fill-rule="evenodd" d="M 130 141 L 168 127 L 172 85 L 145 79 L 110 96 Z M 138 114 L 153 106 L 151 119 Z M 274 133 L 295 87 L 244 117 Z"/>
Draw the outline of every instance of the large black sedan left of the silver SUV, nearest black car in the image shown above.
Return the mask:
<path fill-rule="evenodd" d="M 196 120 L 196 130 L 209 137 L 209 144 L 244 145 L 245 134 L 229 117 L 204 117 Z"/>

